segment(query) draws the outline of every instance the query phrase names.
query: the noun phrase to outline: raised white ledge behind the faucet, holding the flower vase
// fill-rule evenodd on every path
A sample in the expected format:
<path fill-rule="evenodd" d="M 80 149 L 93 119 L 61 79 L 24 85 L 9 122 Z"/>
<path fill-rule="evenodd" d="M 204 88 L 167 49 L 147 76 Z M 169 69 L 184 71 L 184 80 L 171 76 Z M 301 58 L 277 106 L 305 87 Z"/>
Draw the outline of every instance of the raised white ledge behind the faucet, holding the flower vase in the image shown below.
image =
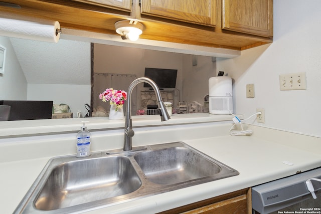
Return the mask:
<path fill-rule="evenodd" d="M 240 115 L 238 116 L 240 119 L 243 118 Z M 232 120 L 232 118 L 232 115 L 214 115 L 209 113 L 173 114 L 170 120 L 162 122 L 159 115 L 142 115 L 132 116 L 132 123 L 134 127 L 140 127 L 228 121 Z M 1 121 L 0 137 L 77 131 L 82 125 L 81 121 L 88 121 L 89 123 L 86 125 L 90 130 L 115 129 L 122 128 L 125 125 L 125 120 L 109 120 L 108 117 Z"/>

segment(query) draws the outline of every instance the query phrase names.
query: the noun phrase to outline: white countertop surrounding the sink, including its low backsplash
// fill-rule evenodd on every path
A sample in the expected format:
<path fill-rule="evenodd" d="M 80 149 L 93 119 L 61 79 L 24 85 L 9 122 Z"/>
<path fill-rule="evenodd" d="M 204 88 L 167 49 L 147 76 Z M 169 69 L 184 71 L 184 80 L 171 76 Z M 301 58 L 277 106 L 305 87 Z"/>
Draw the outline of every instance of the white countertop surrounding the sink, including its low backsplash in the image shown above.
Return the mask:
<path fill-rule="evenodd" d="M 87 213 L 155 213 L 321 166 L 320 138 L 256 126 L 251 127 L 252 136 L 230 136 L 230 126 L 207 122 L 134 129 L 133 146 L 184 141 L 240 174 Z M 75 153 L 74 137 L 59 134 L 0 140 L 3 213 L 13 212 L 50 157 Z M 289 138 L 291 143 L 286 141 Z M 92 150 L 121 148 L 122 140 L 122 130 L 93 132 Z M 293 165 L 283 164 L 284 160 Z"/>

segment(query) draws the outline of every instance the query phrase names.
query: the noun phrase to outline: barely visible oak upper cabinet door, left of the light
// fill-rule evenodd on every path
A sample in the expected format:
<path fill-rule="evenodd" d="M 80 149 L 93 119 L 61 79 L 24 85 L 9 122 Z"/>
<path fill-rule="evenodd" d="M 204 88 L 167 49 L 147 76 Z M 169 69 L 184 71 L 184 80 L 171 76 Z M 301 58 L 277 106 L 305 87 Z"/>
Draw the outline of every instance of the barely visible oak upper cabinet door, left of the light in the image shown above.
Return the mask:
<path fill-rule="evenodd" d="M 72 0 L 72 1 L 131 12 L 131 0 Z"/>

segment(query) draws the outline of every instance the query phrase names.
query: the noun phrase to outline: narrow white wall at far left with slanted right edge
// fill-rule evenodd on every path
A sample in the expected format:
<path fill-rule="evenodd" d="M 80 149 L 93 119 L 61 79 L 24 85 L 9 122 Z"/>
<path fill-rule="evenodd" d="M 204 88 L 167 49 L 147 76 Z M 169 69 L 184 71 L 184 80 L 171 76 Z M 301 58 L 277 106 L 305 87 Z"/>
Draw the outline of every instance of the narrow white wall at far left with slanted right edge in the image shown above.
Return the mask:
<path fill-rule="evenodd" d="M 0 100 L 26 100 L 27 81 L 10 39 L 0 37 L 0 45 L 7 48 L 5 73 L 0 74 Z"/>

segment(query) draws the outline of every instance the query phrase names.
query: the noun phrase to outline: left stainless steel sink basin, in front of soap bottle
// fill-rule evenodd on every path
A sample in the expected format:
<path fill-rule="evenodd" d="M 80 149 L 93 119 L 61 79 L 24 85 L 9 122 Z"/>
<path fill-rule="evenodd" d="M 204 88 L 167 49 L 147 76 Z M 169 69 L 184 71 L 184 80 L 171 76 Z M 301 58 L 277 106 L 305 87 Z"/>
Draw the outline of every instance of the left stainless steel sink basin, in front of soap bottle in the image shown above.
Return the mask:
<path fill-rule="evenodd" d="M 53 167 L 35 206 L 43 210 L 59 209 L 124 195 L 140 185 L 141 181 L 127 157 L 71 160 Z"/>

